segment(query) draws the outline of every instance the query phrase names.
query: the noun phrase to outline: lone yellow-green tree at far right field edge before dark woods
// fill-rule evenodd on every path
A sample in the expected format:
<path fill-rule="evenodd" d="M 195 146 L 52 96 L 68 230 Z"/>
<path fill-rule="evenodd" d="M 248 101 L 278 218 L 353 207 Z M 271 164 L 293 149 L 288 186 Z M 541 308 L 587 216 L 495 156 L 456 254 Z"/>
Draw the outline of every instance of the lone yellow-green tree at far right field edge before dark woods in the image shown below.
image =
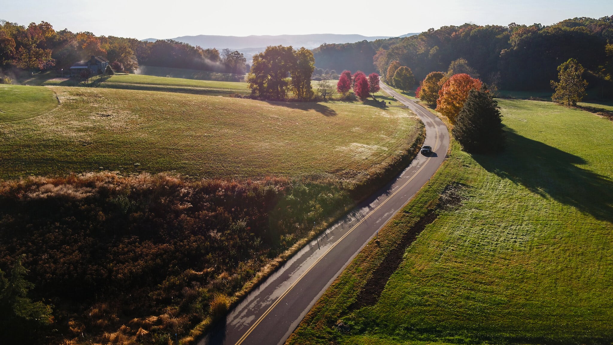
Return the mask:
<path fill-rule="evenodd" d="M 585 69 L 575 59 L 568 59 L 558 66 L 559 82 L 551 81 L 551 86 L 555 88 L 551 99 L 558 101 L 566 106 L 575 106 L 577 102 L 585 96 L 587 81 L 583 79 Z"/>

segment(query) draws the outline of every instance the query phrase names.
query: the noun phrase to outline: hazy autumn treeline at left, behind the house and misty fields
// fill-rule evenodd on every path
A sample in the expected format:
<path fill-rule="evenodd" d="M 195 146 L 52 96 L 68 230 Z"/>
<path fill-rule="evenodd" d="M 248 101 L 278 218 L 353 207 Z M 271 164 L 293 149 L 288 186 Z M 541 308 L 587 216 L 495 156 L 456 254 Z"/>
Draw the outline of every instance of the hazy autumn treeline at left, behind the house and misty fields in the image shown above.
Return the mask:
<path fill-rule="evenodd" d="M 245 74 L 249 66 L 238 51 L 203 49 L 172 40 L 143 42 L 137 39 L 95 36 L 92 33 L 55 31 L 49 23 L 23 26 L 0 22 L 0 68 L 27 70 L 69 69 L 92 56 L 117 61 L 123 71 L 134 72 L 140 64 L 157 67 L 199 69 Z"/>

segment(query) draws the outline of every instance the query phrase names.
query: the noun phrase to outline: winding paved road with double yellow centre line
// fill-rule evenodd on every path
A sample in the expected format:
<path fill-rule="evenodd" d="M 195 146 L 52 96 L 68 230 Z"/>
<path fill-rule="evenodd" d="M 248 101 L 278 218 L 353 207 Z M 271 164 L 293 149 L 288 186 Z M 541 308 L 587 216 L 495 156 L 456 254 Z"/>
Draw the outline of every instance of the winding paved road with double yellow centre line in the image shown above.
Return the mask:
<path fill-rule="evenodd" d="M 381 88 L 417 114 L 426 128 L 421 153 L 386 187 L 311 241 L 254 289 L 199 345 L 283 344 L 313 304 L 375 233 L 417 193 L 443 163 L 449 133 L 441 120 L 413 101 Z"/>

